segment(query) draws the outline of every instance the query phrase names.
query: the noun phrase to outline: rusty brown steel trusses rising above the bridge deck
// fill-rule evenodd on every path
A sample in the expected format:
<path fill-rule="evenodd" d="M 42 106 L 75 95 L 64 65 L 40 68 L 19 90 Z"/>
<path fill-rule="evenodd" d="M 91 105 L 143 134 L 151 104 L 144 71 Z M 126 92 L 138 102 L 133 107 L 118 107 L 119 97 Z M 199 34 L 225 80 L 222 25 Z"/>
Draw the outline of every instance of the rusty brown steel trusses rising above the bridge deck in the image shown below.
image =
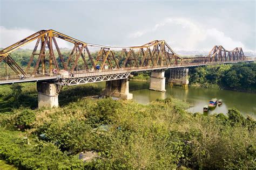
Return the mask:
<path fill-rule="evenodd" d="M 72 51 L 68 55 L 64 55 L 60 50 L 57 38 L 73 44 Z M 22 68 L 11 58 L 10 53 L 32 41 L 36 41 L 36 44 L 28 66 Z M 95 52 L 93 48 L 99 50 Z M 59 56 L 58 60 L 55 55 Z M 5 67 L 9 66 L 19 77 L 53 76 L 58 75 L 60 69 L 73 74 L 78 70 L 84 73 L 103 70 L 147 70 L 243 60 L 246 59 L 242 48 L 227 51 L 222 46 L 214 46 L 207 56 L 181 58 L 164 40 L 154 40 L 142 46 L 110 47 L 89 44 L 54 30 L 38 31 L 0 51 L 0 64 L 4 61 Z M 31 67 L 32 63 L 33 67 Z"/>

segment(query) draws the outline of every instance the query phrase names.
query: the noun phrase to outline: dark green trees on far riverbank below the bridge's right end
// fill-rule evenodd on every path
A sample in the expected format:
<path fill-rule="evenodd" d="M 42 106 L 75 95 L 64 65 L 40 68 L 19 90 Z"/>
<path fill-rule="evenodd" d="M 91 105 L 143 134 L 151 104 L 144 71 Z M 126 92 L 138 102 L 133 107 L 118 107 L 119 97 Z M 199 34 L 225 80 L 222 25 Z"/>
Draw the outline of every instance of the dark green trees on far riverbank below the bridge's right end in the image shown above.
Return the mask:
<path fill-rule="evenodd" d="M 194 67 L 189 75 L 201 87 L 256 92 L 256 63 Z"/>

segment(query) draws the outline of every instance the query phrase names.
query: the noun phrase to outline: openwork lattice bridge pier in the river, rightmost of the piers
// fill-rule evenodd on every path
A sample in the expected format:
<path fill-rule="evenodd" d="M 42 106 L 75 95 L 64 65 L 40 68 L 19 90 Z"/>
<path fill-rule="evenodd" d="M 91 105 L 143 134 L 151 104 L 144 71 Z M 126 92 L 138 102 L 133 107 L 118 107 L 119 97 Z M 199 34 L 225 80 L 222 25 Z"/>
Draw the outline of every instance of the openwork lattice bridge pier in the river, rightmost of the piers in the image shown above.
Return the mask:
<path fill-rule="evenodd" d="M 169 85 L 178 84 L 183 87 L 188 86 L 188 68 L 171 68 L 170 78 L 168 80 Z"/>

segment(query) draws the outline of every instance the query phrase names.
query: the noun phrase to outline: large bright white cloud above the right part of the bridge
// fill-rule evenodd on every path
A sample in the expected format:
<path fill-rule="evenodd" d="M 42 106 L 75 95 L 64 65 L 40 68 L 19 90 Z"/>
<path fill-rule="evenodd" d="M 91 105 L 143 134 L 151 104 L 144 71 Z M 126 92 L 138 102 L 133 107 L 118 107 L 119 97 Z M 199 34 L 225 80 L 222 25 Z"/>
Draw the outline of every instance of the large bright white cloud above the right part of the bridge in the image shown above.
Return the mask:
<path fill-rule="evenodd" d="M 129 34 L 130 40 L 155 39 L 164 37 L 172 42 L 172 47 L 178 50 L 206 50 L 210 51 L 214 45 L 223 45 L 227 50 L 242 47 L 244 51 L 251 51 L 238 40 L 225 35 L 216 28 L 206 29 L 203 24 L 192 22 L 187 18 L 165 18 L 150 29 L 139 30 Z M 170 41 L 170 38 L 172 41 Z"/>

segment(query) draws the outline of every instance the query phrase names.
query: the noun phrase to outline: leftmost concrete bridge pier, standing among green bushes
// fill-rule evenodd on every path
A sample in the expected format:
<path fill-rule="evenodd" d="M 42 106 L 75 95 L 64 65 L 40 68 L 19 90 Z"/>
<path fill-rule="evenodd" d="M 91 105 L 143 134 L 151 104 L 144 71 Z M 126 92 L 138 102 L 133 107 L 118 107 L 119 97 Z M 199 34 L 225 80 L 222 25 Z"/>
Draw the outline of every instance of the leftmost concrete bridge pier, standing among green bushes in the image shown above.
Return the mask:
<path fill-rule="evenodd" d="M 38 108 L 58 107 L 59 101 L 57 86 L 58 85 L 55 83 L 37 82 Z"/>

